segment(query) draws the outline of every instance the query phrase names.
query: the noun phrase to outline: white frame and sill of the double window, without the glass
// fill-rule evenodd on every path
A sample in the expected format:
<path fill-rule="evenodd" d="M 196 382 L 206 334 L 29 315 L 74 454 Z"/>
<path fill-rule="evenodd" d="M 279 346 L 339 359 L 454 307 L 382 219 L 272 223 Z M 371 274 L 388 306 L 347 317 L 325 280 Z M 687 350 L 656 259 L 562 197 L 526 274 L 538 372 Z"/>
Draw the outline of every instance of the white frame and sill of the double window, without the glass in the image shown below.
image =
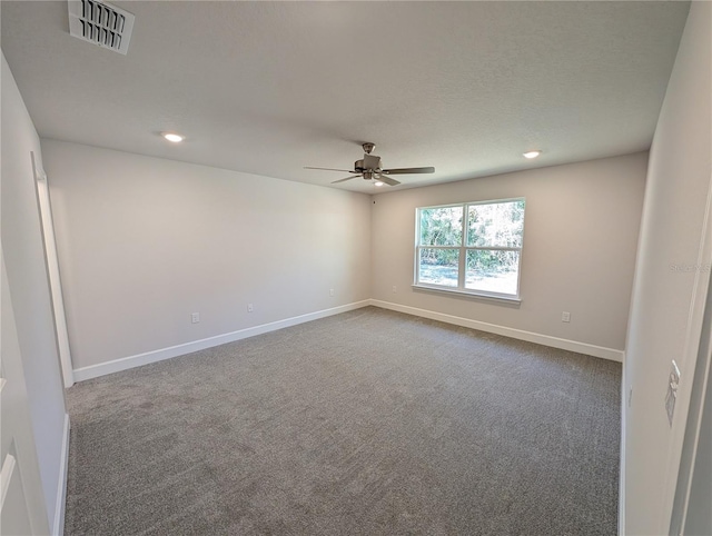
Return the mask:
<path fill-rule="evenodd" d="M 468 218 L 468 207 L 475 205 L 497 205 L 502 202 L 512 202 L 512 201 L 524 201 L 524 221 L 522 222 L 522 246 L 518 248 L 514 247 L 496 247 L 496 246 L 467 246 L 467 218 Z M 453 208 L 453 207 L 462 207 L 463 208 L 463 230 L 462 230 L 462 239 L 459 246 L 421 246 L 421 211 L 436 208 Z M 415 209 L 415 259 L 414 259 L 414 269 L 413 269 L 413 288 L 415 290 L 427 290 L 427 291 L 436 291 L 436 292 L 445 292 L 452 295 L 461 295 L 473 298 L 484 298 L 492 300 L 502 300 L 508 302 L 520 304 L 522 301 L 521 298 L 521 286 L 522 286 L 522 258 L 524 251 L 524 228 L 526 226 L 526 198 L 524 197 L 513 197 L 507 199 L 492 199 L 485 201 L 467 201 L 467 202 L 455 202 L 449 205 L 435 205 L 429 207 L 417 207 Z M 457 267 L 457 287 L 448 287 L 445 285 L 435 285 L 432 282 L 421 282 L 421 249 L 458 249 L 459 258 L 458 258 L 458 267 Z M 518 255 L 518 267 L 517 267 L 517 280 L 516 280 L 516 294 L 505 294 L 505 292 L 493 292 L 488 290 L 477 290 L 465 287 L 465 277 L 466 277 L 466 264 L 467 264 L 467 251 L 517 251 Z"/>

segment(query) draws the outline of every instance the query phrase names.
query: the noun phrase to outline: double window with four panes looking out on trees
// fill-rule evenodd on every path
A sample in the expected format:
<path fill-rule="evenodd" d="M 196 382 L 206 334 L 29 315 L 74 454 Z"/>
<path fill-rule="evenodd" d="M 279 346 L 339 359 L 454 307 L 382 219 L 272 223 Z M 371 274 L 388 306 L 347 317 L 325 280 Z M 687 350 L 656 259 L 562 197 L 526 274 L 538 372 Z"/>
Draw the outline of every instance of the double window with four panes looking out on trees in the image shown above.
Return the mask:
<path fill-rule="evenodd" d="M 518 298 L 524 199 L 417 209 L 415 286 Z"/>

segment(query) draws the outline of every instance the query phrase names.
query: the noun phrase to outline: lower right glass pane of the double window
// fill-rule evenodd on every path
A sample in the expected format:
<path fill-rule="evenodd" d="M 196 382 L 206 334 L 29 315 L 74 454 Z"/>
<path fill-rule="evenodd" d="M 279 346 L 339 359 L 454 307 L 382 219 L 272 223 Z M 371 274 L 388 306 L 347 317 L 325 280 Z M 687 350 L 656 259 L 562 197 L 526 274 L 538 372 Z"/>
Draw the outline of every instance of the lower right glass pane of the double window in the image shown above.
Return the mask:
<path fill-rule="evenodd" d="M 469 250 L 467 251 L 465 288 L 516 296 L 518 272 L 518 251 Z"/>

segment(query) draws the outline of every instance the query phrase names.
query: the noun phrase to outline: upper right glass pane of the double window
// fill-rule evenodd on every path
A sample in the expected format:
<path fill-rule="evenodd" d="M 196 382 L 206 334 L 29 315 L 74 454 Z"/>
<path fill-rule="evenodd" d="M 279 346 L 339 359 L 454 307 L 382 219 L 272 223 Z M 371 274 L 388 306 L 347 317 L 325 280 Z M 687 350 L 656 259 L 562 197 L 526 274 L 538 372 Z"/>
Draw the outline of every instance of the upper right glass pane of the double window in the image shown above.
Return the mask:
<path fill-rule="evenodd" d="M 524 199 L 467 207 L 467 246 L 521 248 Z"/>

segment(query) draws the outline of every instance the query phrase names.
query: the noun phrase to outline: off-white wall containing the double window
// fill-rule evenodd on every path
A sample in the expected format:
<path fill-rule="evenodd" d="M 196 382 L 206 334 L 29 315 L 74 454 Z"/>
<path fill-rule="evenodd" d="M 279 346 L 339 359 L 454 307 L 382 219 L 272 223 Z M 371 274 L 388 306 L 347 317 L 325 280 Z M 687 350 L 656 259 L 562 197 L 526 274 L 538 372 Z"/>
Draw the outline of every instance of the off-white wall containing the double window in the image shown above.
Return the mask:
<path fill-rule="evenodd" d="M 622 350 L 646 159 L 636 153 L 375 196 L 373 298 Z M 526 198 L 518 308 L 411 288 L 416 207 L 512 197 Z M 561 321 L 564 310 L 570 324 Z"/>

